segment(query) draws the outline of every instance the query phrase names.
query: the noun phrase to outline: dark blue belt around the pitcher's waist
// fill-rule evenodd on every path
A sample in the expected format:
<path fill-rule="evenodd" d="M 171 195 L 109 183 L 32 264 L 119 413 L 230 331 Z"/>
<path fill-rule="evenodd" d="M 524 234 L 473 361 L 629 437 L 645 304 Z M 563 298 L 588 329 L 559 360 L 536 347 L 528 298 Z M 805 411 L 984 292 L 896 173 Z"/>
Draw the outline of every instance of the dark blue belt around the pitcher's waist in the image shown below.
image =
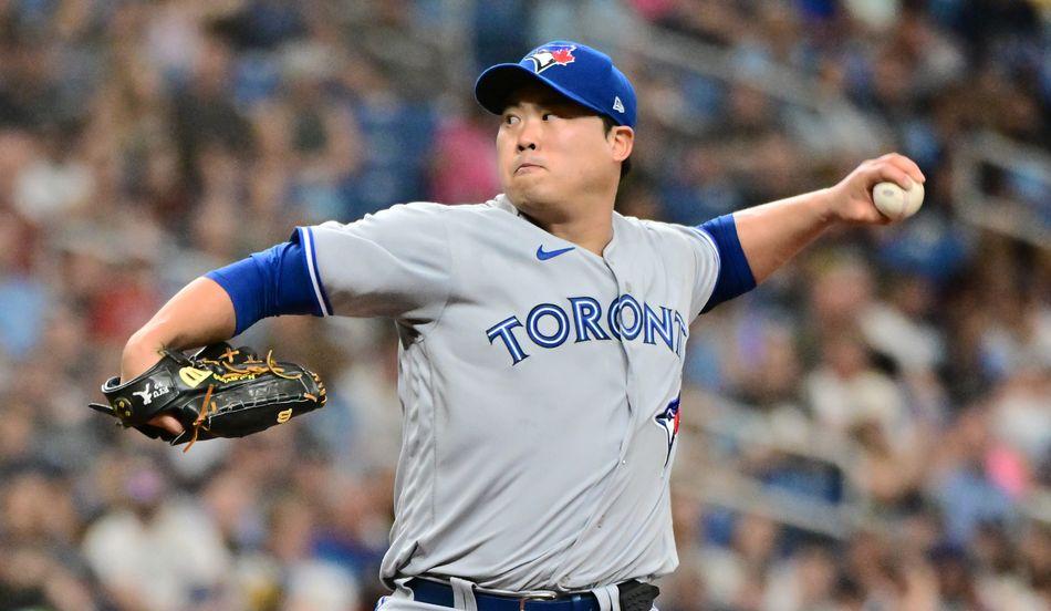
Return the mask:
<path fill-rule="evenodd" d="M 413 590 L 413 600 L 451 608 L 452 587 L 429 579 L 413 578 L 406 583 Z M 641 581 L 625 581 L 617 586 L 621 611 L 649 611 L 660 592 L 656 586 Z M 599 599 L 591 592 L 563 594 L 553 599 L 488 594 L 475 591 L 478 611 L 599 611 Z"/>

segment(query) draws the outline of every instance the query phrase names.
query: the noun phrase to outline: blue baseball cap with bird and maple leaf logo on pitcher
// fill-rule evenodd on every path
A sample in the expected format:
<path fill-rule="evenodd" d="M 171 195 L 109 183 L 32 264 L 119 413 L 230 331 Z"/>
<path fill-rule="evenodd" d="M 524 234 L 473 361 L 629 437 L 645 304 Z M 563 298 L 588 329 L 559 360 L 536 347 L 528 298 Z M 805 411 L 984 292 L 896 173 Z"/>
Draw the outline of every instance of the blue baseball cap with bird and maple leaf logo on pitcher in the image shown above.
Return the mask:
<path fill-rule="evenodd" d="M 547 85 L 618 125 L 635 127 L 635 87 L 608 55 L 586 44 L 555 40 L 518 63 L 489 68 L 475 83 L 475 99 L 490 113 L 502 114 L 508 96 L 529 82 Z"/>

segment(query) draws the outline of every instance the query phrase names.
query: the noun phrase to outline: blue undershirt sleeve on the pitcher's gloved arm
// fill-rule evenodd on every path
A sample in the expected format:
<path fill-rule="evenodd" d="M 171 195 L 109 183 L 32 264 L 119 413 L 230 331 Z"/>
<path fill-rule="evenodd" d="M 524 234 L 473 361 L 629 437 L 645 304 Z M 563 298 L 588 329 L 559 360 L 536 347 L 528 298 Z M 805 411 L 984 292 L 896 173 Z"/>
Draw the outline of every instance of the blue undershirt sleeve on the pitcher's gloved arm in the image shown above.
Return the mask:
<path fill-rule="evenodd" d="M 235 335 L 280 314 L 323 315 L 296 229 L 289 241 L 205 275 L 219 283 L 237 318 Z"/>

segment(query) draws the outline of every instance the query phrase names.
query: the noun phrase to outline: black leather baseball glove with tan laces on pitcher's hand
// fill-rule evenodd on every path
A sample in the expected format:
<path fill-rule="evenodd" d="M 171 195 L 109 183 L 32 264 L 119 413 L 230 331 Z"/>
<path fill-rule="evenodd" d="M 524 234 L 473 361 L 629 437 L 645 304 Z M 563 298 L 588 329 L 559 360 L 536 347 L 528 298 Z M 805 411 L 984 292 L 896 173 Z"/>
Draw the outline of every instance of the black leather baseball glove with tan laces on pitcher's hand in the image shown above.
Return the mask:
<path fill-rule="evenodd" d="M 258 433 L 325 404 L 318 374 L 294 363 L 275 363 L 270 353 L 261 360 L 249 348 L 235 350 L 225 342 L 192 356 L 165 350 L 157 364 L 119 382 L 111 377 L 102 385 L 108 405 L 90 407 L 152 438 L 188 443 L 186 449 L 198 439 Z M 175 416 L 185 431 L 175 435 L 148 424 L 162 414 Z"/>

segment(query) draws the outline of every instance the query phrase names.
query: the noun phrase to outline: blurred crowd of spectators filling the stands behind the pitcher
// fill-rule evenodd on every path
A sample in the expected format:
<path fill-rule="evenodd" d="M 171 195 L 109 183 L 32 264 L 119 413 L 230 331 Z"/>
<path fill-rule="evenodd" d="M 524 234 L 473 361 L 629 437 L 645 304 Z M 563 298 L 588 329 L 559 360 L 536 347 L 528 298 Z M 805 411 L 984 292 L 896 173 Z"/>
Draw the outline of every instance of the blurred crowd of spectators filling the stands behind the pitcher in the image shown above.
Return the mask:
<path fill-rule="evenodd" d="M 296 225 L 490 198 L 497 122 L 472 77 L 593 32 L 639 95 L 624 214 L 695 225 L 891 149 L 928 178 L 908 222 L 829 235 L 691 330 L 687 395 L 850 457 L 815 475 L 743 436 L 721 468 L 864 515 L 808 532 L 684 480 L 681 567 L 659 608 L 1048 609 L 1051 249 L 971 226 L 954 201 L 972 135 L 1049 153 L 1048 11 L 0 1 L 0 610 L 371 608 L 400 444 L 389 322 L 281 318 L 238 338 L 329 381 L 325 410 L 263 435 L 183 454 L 85 404 L 196 276 Z M 639 52 L 662 33 L 719 50 L 735 77 Z M 771 82 L 804 85 L 816 115 Z M 1045 183 L 990 172 L 981 186 L 1051 216 Z M 684 402 L 684 426 L 727 417 L 707 403 Z"/>

